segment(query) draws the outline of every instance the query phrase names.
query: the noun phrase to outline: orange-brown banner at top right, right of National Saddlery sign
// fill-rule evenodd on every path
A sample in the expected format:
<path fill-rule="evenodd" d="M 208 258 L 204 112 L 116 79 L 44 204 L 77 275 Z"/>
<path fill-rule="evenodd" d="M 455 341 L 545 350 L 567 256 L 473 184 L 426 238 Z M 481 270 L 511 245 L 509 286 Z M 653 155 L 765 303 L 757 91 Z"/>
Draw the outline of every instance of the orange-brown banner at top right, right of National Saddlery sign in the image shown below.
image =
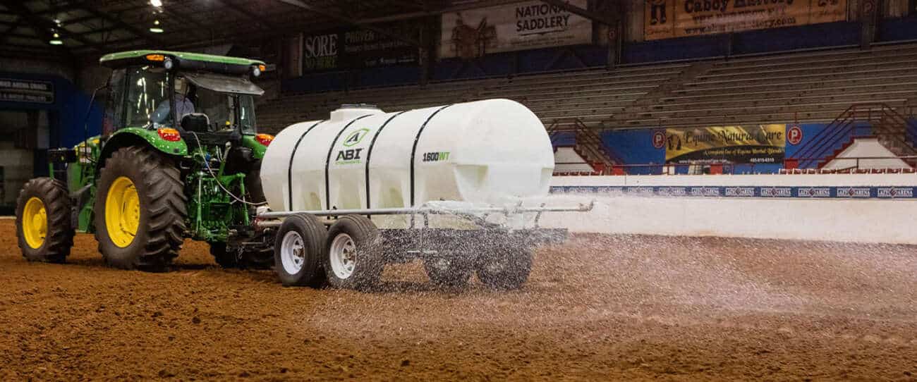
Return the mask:
<path fill-rule="evenodd" d="M 847 0 L 646 0 L 644 38 L 683 38 L 846 19 Z"/>

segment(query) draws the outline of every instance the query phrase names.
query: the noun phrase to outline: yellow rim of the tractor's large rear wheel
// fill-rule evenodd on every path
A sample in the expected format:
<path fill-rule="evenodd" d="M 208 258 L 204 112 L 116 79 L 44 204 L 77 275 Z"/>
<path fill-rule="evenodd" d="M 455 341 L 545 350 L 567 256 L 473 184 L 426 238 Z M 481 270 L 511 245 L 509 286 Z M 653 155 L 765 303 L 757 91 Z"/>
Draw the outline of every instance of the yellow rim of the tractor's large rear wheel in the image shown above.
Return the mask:
<path fill-rule="evenodd" d="M 105 230 L 116 246 L 130 246 L 140 224 L 140 199 L 134 182 L 119 177 L 105 197 Z"/>

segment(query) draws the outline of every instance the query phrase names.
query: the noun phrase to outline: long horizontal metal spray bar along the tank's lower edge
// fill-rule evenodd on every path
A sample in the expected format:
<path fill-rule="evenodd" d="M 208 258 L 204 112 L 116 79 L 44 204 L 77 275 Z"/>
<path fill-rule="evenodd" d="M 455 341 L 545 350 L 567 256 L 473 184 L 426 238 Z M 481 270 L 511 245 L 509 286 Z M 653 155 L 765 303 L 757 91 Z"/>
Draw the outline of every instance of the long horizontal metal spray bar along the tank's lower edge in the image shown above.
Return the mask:
<path fill-rule="evenodd" d="M 300 213 L 308 213 L 315 216 L 339 216 L 339 215 L 407 215 L 407 214 L 455 214 L 455 213 L 585 213 L 592 210 L 595 202 L 589 204 L 579 204 L 576 207 L 471 207 L 461 209 L 447 208 L 358 208 L 350 210 L 321 210 L 321 211 L 278 211 L 270 213 L 259 213 L 259 219 L 276 219 L 292 216 Z"/>

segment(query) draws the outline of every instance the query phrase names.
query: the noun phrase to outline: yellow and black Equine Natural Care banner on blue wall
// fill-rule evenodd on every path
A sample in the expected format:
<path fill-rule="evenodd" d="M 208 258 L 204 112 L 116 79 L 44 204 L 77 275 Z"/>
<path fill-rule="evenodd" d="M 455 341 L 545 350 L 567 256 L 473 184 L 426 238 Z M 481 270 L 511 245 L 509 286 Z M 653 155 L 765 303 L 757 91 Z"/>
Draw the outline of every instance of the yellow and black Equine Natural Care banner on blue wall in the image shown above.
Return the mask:
<path fill-rule="evenodd" d="M 666 129 L 666 163 L 781 163 L 786 125 Z"/>

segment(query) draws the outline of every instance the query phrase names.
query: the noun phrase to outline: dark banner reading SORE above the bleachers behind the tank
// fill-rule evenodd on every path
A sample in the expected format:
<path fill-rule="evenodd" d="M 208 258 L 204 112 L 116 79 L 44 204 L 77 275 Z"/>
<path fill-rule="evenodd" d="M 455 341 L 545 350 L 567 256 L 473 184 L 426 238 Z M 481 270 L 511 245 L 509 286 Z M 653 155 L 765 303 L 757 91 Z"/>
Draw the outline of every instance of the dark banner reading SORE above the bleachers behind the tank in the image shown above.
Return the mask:
<path fill-rule="evenodd" d="M 416 27 L 385 26 L 418 39 Z M 303 71 L 374 68 L 418 62 L 416 47 L 368 29 L 348 29 L 303 37 Z"/>

